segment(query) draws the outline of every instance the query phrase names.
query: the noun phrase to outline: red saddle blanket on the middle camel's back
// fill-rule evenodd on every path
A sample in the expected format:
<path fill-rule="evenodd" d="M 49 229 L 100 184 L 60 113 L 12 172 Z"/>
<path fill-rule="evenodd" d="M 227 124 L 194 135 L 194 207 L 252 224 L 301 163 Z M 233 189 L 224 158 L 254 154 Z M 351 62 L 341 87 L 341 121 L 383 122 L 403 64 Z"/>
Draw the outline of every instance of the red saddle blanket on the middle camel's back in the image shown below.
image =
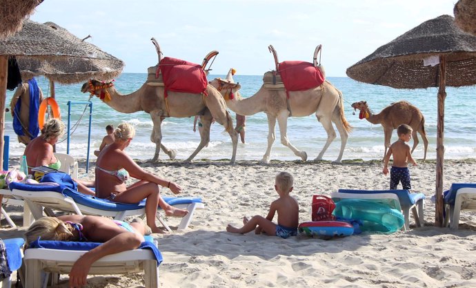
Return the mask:
<path fill-rule="evenodd" d="M 321 70 L 304 61 L 282 61 L 279 75 L 287 91 L 303 91 L 320 86 L 324 82 Z"/>

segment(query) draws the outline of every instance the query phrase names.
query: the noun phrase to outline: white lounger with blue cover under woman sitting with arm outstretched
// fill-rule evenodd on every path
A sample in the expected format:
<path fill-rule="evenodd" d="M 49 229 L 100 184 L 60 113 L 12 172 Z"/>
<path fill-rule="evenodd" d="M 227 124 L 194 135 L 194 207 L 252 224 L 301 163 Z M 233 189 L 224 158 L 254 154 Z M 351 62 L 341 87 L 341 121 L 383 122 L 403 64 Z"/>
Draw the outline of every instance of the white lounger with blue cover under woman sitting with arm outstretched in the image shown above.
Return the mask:
<path fill-rule="evenodd" d="M 95 198 L 91 195 L 79 193 L 78 191 L 63 188 L 63 186 L 46 186 L 35 184 L 23 184 L 13 182 L 10 184 L 12 195 L 15 198 L 24 200 L 30 207 L 34 219 L 43 217 L 43 207 L 76 213 L 78 215 L 102 215 L 123 220 L 127 216 L 145 215 L 146 202 L 141 201 L 134 204 L 112 202 L 106 199 Z M 173 207 L 187 209 L 188 214 L 181 219 L 177 229 L 186 229 L 196 209 L 204 209 L 201 198 L 193 197 L 163 197 Z M 171 231 L 168 224 L 157 213 L 157 220 L 163 227 Z"/>

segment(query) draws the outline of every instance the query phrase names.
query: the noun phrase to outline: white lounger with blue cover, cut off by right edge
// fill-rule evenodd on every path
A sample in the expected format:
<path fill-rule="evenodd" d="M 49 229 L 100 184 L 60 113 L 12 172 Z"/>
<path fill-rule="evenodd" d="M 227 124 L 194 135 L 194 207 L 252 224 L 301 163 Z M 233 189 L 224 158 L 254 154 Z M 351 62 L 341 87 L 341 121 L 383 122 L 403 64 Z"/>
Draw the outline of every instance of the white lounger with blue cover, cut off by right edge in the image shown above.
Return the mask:
<path fill-rule="evenodd" d="M 444 226 L 458 229 L 459 214 L 462 210 L 476 211 L 476 183 L 453 183 L 450 190 L 444 192 L 446 215 Z"/>

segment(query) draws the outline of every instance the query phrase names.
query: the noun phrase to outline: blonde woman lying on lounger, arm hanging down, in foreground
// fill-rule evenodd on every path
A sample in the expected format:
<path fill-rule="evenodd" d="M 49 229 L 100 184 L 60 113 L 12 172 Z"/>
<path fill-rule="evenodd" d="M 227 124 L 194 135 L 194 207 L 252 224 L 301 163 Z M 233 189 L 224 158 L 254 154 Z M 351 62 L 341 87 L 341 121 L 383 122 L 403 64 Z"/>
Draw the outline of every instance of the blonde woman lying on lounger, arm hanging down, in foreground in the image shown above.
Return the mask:
<path fill-rule="evenodd" d="M 70 287 L 86 285 L 89 269 L 103 256 L 132 250 L 150 233 L 141 222 L 122 222 L 101 216 L 62 215 L 43 217 L 35 221 L 25 232 L 26 242 L 37 240 L 103 242 L 95 249 L 84 253 L 70 271 Z"/>

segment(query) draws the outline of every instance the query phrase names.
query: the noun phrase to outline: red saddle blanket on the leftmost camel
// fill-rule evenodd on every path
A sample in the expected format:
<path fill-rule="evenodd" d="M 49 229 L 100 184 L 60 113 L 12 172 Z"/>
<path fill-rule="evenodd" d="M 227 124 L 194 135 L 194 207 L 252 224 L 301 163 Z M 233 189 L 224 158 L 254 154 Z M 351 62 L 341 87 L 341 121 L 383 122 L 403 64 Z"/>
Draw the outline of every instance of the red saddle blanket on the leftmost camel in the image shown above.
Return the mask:
<path fill-rule="evenodd" d="M 208 81 L 205 71 L 199 64 L 163 57 L 159 69 L 166 88 L 165 97 L 167 97 L 167 91 L 199 94 L 206 90 Z"/>

